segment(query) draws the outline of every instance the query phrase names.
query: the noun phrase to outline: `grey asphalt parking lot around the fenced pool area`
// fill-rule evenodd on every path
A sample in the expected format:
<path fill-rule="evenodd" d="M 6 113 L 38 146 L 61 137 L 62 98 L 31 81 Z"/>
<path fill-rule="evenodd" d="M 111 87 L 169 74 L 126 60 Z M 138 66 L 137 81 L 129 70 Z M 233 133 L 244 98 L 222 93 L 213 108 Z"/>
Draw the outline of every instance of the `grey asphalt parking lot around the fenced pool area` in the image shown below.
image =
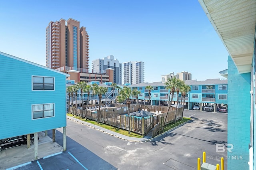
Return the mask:
<path fill-rule="evenodd" d="M 186 124 L 159 135 L 148 142 L 129 142 L 116 138 L 99 130 L 81 125 L 75 121 L 67 120 L 67 151 L 48 143 L 42 143 L 44 134 L 39 139 L 38 156 L 34 160 L 33 145 L 25 151 L 26 146 L 18 146 L 4 150 L 6 159 L 0 157 L 0 169 L 13 167 L 18 164 L 32 161 L 18 170 L 26 169 L 186 169 L 195 170 L 197 158 L 202 158 L 206 152 L 206 162 L 220 164 L 221 156 L 226 158 L 227 153 L 217 153 L 216 144 L 227 142 L 227 114 L 206 111 L 185 110 L 185 117 L 192 118 Z M 62 129 L 56 130 L 56 142 L 62 145 Z M 48 131 L 50 136 L 50 131 Z M 41 141 L 40 141 L 41 140 Z M 44 148 L 43 150 L 40 150 Z M 58 155 L 44 158 L 46 151 Z M 40 155 L 41 153 L 41 155 Z M 48 153 L 48 155 L 53 153 Z M 12 155 L 12 156 L 10 156 Z M 2 156 L 2 153 L 1 153 Z M 10 157 L 9 157 L 10 156 Z M 7 157 L 9 157 L 7 159 Z M 226 162 L 225 169 L 226 169 Z"/>

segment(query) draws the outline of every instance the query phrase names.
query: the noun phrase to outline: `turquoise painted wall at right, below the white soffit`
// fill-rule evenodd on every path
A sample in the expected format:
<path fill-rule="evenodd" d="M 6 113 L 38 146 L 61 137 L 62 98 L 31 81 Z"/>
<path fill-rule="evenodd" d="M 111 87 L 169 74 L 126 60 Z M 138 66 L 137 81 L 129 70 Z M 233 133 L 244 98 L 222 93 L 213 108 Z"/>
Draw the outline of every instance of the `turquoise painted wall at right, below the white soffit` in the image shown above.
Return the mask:
<path fill-rule="evenodd" d="M 250 143 L 250 73 L 239 74 L 231 57 L 228 57 L 228 169 L 248 170 Z M 233 157 L 232 157 L 233 156 Z M 234 156 L 242 156 L 235 159 Z"/>

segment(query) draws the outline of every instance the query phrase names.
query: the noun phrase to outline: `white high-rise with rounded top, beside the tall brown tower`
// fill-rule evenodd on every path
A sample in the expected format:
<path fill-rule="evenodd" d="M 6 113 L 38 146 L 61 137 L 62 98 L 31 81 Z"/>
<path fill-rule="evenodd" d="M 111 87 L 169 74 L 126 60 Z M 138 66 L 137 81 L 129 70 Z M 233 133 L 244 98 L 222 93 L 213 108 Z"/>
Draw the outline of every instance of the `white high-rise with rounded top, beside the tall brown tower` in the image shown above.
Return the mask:
<path fill-rule="evenodd" d="M 104 74 L 107 70 L 113 71 L 113 83 L 120 84 L 122 79 L 121 74 L 122 64 L 118 59 L 114 59 L 113 55 L 104 57 L 103 59 L 96 59 L 92 61 L 92 73 Z M 107 73 L 108 74 L 108 73 Z M 111 78 L 110 78 L 111 79 Z"/>

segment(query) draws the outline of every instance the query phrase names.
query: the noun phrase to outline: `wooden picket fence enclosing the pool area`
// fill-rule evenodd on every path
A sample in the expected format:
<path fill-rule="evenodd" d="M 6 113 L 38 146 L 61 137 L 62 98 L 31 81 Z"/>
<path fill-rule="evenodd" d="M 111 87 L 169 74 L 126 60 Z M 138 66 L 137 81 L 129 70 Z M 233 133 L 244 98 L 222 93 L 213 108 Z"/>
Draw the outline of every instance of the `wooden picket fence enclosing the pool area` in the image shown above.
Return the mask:
<path fill-rule="evenodd" d="M 130 107 L 130 113 L 136 112 L 142 109 L 143 105 L 132 105 Z M 165 106 L 153 106 L 148 107 L 148 109 L 161 109 L 160 107 Z M 146 107 L 147 108 L 147 107 Z M 168 109 L 168 108 L 167 108 Z M 130 125 L 131 131 L 141 134 L 143 136 L 147 135 L 151 130 L 152 136 L 156 136 L 160 132 L 163 132 L 164 126 L 174 122 L 175 109 L 170 109 L 168 116 L 167 113 L 161 113 L 159 115 L 152 115 L 148 117 L 137 117 L 130 115 Z M 74 108 L 74 114 L 76 114 L 76 109 Z M 161 111 L 161 110 L 160 110 Z M 167 110 L 166 110 L 167 112 Z M 70 107 L 70 113 L 72 113 L 72 108 Z M 117 128 L 122 128 L 128 130 L 128 107 L 127 105 L 122 105 L 122 107 L 110 107 L 107 109 L 100 109 L 95 111 L 87 111 L 87 119 L 97 121 L 98 114 L 100 116 L 99 122 L 105 123 L 110 126 Z M 82 116 L 82 109 L 77 109 L 77 116 Z M 86 110 L 83 110 L 84 117 L 86 116 Z M 176 120 L 181 119 L 182 108 L 177 109 Z M 164 120 L 166 118 L 166 123 L 164 125 Z"/>

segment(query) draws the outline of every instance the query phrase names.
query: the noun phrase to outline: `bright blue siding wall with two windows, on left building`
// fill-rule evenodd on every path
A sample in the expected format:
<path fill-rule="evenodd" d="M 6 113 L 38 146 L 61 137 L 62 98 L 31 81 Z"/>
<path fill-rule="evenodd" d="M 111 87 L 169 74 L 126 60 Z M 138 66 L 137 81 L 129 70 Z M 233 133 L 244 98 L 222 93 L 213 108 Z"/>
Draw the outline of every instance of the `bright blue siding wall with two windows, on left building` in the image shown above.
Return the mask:
<path fill-rule="evenodd" d="M 0 138 L 66 126 L 66 75 L 0 54 Z M 32 75 L 55 77 L 55 91 L 32 91 Z M 32 120 L 32 105 L 54 103 L 54 117 Z"/>

